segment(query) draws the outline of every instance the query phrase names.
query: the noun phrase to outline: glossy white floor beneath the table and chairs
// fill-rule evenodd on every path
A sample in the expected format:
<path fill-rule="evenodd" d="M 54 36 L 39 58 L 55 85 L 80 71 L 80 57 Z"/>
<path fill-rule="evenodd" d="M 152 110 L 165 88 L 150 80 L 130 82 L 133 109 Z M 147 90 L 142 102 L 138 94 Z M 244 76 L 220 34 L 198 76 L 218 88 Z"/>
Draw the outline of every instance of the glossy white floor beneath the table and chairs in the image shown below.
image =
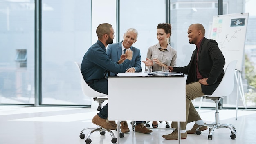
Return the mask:
<path fill-rule="evenodd" d="M 256 111 L 240 110 L 238 120 L 235 120 L 235 110 L 223 109 L 219 112 L 220 123 L 236 126 L 235 140 L 230 138 L 229 129 L 220 128 L 213 132 L 212 140 L 208 140 L 207 130 L 201 135 L 188 135 L 187 139 L 181 140 L 181 144 L 256 144 Z M 0 106 L 0 144 L 85 144 L 79 134 L 85 127 L 96 127 L 91 122 L 96 113 L 91 108 Z M 214 113 L 215 110 L 200 111 L 207 123 L 215 120 Z M 128 124 L 130 133 L 120 138 L 120 144 L 178 144 L 178 140 L 162 138 L 172 130 L 153 129 L 153 133 L 141 134 L 132 131 L 129 121 Z M 192 126 L 193 123 L 188 124 L 187 129 Z M 164 128 L 165 122 L 159 123 L 159 127 Z M 113 133 L 117 135 L 117 131 Z M 108 133 L 104 136 L 99 132 L 92 133 L 90 138 L 91 144 L 112 144 Z"/>

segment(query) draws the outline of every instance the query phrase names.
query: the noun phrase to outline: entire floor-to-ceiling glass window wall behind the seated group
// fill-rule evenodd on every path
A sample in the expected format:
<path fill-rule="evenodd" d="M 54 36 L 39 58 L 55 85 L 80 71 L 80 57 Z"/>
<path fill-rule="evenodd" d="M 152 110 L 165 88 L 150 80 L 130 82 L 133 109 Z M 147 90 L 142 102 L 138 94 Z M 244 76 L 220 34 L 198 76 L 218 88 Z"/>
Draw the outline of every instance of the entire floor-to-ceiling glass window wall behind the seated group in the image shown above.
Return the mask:
<path fill-rule="evenodd" d="M 0 0 L 0 104 L 34 104 L 37 87 L 36 91 L 41 92 L 40 104 L 90 105 L 91 99 L 81 91 L 74 61 L 81 62 L 87 49 L 96 42 L 97 26 L 106 22 L 112 24 L 114 42 L 123 40 L 126 29 L 137 29 L 138 40 L 133 46 L 141 50 L 141 60 L 145 60 L 148 47 L 158 42 L 157 24 L 167 21 L 168 0 L 38 1 L 42 4 L 38 13 L 42 16 L 38 20 L 42 26 L 41 59 L 34 56 L 35 1 Z M 222 14 L 249 12 L 242 84 L 247 107 L 252 108 L 256 107 L 255 4 L 255 0 L 223 0 L 222 11 Z M 117 6 L 120 7 L 117 9 Z M 201 23 L 206 37 L 210 38 L 213 16 L 218 15 L 218 0 L 170 0 L 169 8 L 170 44 L 177 50 L 177 66 L 186 66 L 195 49 L 195 45 L 188 42 L 187 29 L 190 24 Z M 34 75 L 35 60 L 39 59 L 41 87 L 38 88 Z M 141 66 L 144 71 L 144 63 Z M 224 107 L 236 106 L 236 88 L 235 84 L 232 97 L 223 100 Z M 199 100 L 195 100 L 195 106 Z M 202 106 L 214 106 L 214 103 L 204 100 Z M 240 95 L 238 106 L 245 107 Z"/>

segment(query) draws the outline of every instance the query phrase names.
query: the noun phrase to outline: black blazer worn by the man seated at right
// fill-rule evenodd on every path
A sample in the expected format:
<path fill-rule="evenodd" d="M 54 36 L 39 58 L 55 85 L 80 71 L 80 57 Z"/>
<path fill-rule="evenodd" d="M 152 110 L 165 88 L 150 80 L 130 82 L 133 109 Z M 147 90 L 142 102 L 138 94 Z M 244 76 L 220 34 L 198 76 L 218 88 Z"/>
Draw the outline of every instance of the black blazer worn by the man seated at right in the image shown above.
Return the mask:
<path fill-rule="evenodd" d="M 183 72 L 187 74 L 186 84 L 197 82 L 196 78 L 196 55 L 197 49 L 193 51 L 189 65 L 184 67 L 174 67 L 173 72 Z M 215 40 L 203 38 L 198 52 L 198 71 L 203 78 L 208 78 L 208 86 L 202 85 L 202 92 L 211 95 L 220 84 L 224 70 L 225 59 Z"/>

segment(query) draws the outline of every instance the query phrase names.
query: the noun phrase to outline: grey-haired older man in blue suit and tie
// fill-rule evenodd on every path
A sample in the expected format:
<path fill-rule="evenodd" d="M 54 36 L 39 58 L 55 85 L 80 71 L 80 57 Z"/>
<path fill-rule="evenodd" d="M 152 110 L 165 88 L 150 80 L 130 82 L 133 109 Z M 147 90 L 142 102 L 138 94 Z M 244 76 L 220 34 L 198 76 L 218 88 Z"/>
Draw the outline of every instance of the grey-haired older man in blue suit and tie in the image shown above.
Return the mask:
<path fill-rule="evenodd" d="M 126 50 L 131 50 L 133 52 L 132 60 L 129 64 L 129 67 L 126 69 L 126 72 L 134 73 L 142 71 L 140 50 L 136 47 L 132 47 L 132 44 L 137 41 L 137 38 L 138 31 L 136 29 L 127 29 L 124 33 L 124 40 L 119 43 L 109 44 L 106 51 L 109 58 L 114 62 L 119 61 L 121 55 L 124 54 Z M 110 73 L 110 75 L 115 74 Z M 130 131 L 126 121 L 121 121 L 120 125 L 122 133 L 128 133 Z M 142 124 L 142 121 L 136 121 L 135 131 L 140 133 L 152 132 L 152 130 L 149 130 L 144 126 L 144 124 Z"/>

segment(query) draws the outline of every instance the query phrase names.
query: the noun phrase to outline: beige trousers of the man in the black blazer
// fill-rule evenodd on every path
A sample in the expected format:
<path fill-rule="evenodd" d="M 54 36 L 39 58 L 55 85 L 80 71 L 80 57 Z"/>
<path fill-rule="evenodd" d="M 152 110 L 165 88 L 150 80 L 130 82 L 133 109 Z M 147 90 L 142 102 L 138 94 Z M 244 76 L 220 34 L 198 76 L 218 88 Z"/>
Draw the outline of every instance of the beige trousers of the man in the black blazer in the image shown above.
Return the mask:
<path fill-rule="evenodd" d="M 197 120 L 201 120 L 198 112 L 195 110 L 194 105 L 191 100 L 204 96 L 204 93 L 201 89 L 201 84 L 199 82 L 192 82 L 190 84 L 186 84 L 186 122 L 180 122 L 180 129 L 186 130 L 186 124 L 189 122 L 194 122 Z M 172 128 L 178 128 L 177 122 L 172 122 Z"/>

